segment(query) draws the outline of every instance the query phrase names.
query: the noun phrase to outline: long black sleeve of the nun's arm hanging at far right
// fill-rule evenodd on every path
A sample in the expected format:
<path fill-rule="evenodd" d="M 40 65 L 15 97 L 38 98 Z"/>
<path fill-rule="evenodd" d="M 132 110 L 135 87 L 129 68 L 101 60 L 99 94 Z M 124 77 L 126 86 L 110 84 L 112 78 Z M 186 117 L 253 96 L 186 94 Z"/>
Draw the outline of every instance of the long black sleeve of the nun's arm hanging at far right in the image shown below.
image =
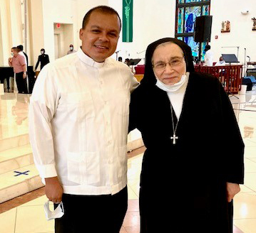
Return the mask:
<path fill-rule="evenodd" d="M 220 99 L 222 106 L 222 134 L 223 154 L 225 158 L 225 177 L 230 183 L 244 183 L 244 148 L 240 129 L 237 124 L 235 112 L 230 98 L 227 96 L 222 85 L 220 87 Z"/>

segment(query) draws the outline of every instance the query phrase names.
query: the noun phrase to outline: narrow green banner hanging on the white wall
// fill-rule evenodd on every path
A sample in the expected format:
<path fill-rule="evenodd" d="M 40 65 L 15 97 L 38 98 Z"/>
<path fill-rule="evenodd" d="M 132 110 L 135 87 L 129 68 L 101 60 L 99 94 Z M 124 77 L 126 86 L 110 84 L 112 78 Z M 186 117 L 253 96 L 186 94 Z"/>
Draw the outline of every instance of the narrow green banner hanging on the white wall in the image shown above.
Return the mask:
<path fill-rule="evenodd" d="M 123 42 L 133 42 L 133 0 L 123 0 Z"/>

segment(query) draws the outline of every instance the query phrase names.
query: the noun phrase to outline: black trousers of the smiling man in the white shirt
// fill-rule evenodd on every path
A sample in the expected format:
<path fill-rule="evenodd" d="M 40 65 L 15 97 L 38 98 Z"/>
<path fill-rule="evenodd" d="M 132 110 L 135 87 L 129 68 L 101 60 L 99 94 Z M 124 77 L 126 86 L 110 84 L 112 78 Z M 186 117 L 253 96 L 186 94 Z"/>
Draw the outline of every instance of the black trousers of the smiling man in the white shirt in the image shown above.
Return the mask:
<path fill-rule="evenodd" d="M 55 220 L 56 233 L 119 233 L 128 206 L 127 187 L 115 195 L 63 194 L 62 202 L 65 213 Z"/>

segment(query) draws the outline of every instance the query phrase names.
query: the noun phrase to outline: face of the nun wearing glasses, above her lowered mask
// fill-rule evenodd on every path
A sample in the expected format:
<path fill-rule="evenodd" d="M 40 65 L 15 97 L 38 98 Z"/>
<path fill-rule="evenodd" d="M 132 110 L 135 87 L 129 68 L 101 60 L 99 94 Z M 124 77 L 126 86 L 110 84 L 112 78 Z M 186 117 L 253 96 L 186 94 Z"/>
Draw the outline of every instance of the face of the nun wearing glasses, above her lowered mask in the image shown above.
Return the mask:
<path fill-rule="evenodd" d="M 152 57 L 155 76 L 165 85 L 179 82 L 186 72 L 183 50 L 175 43 L 164 43 L 155 48 Z"/>

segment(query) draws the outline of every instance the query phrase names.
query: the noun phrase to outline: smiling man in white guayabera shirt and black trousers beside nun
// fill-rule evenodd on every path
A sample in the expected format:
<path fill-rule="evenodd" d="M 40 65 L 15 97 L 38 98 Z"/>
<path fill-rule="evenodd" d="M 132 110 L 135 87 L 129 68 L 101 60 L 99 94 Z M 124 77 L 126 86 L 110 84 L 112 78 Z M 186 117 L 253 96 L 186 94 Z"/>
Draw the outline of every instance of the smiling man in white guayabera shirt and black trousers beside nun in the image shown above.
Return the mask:
<path fill-rule="evenodd" d="M 118 13 L 86 13 L 77 53 L 41 70 L 30 102 L 30 138 L 46 196 L 63 202 L 56 232 L 118 233 L 127 209 L 128 109 L 138 86 L 109 58 L 121 31 Z"/>

